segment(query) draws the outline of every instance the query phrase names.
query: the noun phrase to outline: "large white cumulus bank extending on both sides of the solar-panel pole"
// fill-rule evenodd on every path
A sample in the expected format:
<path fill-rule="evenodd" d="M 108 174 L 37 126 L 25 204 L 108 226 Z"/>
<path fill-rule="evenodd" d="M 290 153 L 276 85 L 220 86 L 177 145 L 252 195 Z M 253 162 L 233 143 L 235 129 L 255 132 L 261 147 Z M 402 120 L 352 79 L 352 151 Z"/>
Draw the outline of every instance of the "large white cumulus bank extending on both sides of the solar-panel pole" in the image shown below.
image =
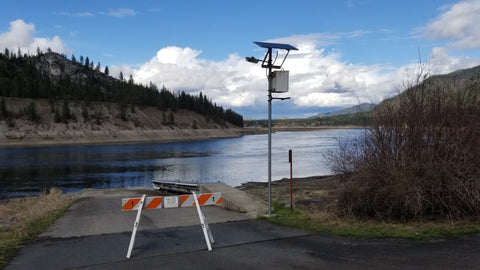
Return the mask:
<path fill-rule="evenodd" d="M 330 38 L 331 35 L 313 34 L 282 39 L 299 48 L 298 52 L 290 53 L 284 65 L 285 70 L 291 70 L 288 95 L 296 105 L 350 106 L 391 95 L 395 77 L 392 67 L 346 63 L 341 54 L 318 48 L 318 44 L 328 43 Z M 281 59 L 283 52 L 279 53 Z M 201 91 L 222 106 L 244 107 L 265 102 L 265 70 L 237 54 L 222 61 L 210 61 L 201 58 L 199 50 L 171 46 L 160 49 L 139 68 L 112 67 L 111 71 L 130 73 L 136 82 L 165 85 L 174 91 L 194 94 Z"/>

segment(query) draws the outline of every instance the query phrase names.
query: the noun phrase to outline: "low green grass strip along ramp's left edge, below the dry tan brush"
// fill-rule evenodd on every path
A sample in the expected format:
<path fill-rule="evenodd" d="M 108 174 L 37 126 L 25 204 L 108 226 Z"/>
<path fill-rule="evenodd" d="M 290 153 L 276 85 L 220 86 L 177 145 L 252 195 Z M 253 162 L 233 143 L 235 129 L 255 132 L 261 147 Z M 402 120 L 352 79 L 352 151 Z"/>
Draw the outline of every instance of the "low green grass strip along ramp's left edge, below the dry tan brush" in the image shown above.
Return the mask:
<path fill-rule="evenodd" d="M 4 269 L 22 247 L 44 232 L 70 205 L 71 202 L 68 202 L 67 205 L 57 211 L 50 212 L 15 228 L 0 230 L 0 269 Z"/>

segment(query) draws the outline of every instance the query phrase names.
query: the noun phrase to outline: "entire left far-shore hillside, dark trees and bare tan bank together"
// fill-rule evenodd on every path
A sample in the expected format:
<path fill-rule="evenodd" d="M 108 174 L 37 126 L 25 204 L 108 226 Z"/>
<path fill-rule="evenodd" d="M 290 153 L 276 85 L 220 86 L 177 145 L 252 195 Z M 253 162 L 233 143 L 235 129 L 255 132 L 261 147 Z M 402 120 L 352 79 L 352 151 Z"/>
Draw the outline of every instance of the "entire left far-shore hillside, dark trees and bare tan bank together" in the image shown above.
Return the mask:
<path fill-rule="evenodd" d="M 101 71 L 88 57 L 0 52 L 0 144 L 171 141 L 243 134 L 243 117 L 205 95 Z"/>

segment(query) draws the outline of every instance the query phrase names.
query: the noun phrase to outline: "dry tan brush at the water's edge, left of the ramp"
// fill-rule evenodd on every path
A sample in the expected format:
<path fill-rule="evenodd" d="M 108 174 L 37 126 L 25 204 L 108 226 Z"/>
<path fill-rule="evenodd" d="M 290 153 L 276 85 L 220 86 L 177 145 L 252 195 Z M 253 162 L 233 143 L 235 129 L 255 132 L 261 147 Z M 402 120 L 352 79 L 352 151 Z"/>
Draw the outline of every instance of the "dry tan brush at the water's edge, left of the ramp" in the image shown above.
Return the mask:
<path fill-rule="evenodd" d="M 11 226 L 26 224 L 56 212 L 68 203 L 62 191 L 51 189 L 38 197 L 14 198 L 0 202 L 0 223 Z"/>

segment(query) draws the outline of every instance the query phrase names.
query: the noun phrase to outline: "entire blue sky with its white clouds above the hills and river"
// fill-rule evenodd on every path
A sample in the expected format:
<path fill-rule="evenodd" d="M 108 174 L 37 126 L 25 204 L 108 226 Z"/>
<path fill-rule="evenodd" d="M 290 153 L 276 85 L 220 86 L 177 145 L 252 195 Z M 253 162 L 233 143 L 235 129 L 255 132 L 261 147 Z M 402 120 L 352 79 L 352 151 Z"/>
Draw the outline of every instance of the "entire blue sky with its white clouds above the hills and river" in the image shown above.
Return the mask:
<path fill-rule="evenodd" d="M 410 80 L 480 64 L 480 0 L 4 1 L 0 49 L 89 57 L 136 82 L 200 91 L 266 118 L 263 57 L 253 41 L 289 43 L 289 101 L 274 118 L 379 102 Z M 280 52 L 282 53 L 282 52 Z"/>

